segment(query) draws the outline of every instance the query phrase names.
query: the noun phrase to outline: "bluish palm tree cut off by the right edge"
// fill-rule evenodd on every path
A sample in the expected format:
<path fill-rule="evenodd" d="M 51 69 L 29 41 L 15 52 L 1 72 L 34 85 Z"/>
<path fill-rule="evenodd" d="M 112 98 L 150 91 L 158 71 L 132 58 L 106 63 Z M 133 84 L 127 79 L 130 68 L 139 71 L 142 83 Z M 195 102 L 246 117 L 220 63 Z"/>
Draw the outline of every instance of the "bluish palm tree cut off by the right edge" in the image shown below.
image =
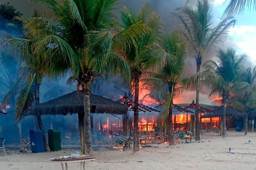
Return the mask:
<path fill-rule="evenodd" d="M 245 69 L 240 75 L 240 82 L 236 83 L 234 87 L 236 91 L 242 91 L 242 101 L 237 100 L 231 102 L 231 105 L 235 108 L 240 108 L 244 113 L 244 135 L 248 132 L 248 111 L 249 108 L 253 108 L 256 104 L 256 100 L 253 98 L 254 91 L 256 89 L 256 66 L 254 68 Z"/>

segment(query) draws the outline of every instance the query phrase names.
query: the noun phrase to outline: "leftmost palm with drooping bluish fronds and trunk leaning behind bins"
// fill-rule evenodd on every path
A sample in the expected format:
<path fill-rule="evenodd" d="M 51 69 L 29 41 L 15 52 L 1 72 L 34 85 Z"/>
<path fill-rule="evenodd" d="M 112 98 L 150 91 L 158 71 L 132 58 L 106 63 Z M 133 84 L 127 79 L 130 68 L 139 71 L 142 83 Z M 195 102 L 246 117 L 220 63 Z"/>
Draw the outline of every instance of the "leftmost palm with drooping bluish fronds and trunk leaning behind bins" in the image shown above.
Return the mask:
<path fill-rule="evenodd" d="M 38 13 L 34 11 L 32 17 L 38 17 Z M 16 20 L 18 20 L 23 26 L 29 23 L 29 20 L 22 17 L 16 17 Z M 14 27 L 17 28 L 16 30 L 20 35 L 19 38 L 15 38 L 6 32 L 1 32 L 6 37 L 5 40 L 1 41 L 1 45 L 2 49 L 9 48 L 11 45 L 13 51 L 19 53 L 19 57 L 17 58 L 20 61 L 22 68 L 18 79 L 1 102 L 1 107 L 9 104 L 11 100 L 18 95 L 16 99 L 17 101 L 15 102 L 15 120 L 20 122 L 20 120 L 27 115 L 27 111 L 34 103 L 35 105 L 40 103 L 39 89 L 44 77 L 44 73 L 41 70 L 40 64 L 35 65 L 35 56 L 31 54 L 31 44 L 33 43 L 33 39 L 29 39 L 28 35 L 25 33 L 26 28 L 20 28 L 20 25 L 18 27 Z M 22 48 L 20 48 L 20 40 L 28 40 L 29 48 L 27 48 L 26 51 L 24 51 L 23 45 Z M 38 127 L 43 132 L 44 148 L 46 151 L 49 151 L 43 119 L 41 115 L 36 117 L 38 120 Z"/>

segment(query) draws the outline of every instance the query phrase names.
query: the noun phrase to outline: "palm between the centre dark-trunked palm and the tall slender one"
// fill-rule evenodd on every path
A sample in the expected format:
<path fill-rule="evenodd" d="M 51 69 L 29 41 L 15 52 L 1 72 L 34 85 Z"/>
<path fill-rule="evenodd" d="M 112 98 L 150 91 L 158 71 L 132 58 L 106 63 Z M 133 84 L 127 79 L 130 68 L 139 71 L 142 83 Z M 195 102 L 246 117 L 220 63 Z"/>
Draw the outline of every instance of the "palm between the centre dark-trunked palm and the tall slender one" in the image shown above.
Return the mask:
<path fill-rule="evenodd" d="M 148 77 L 143 80 L 152 83 L 155 86 L 163 88 L 163 84 L 167 86 L 167 99 L 165 99 L 165 109 L 160 113 L 164 117 L 164 123 L 167 122 L 169 113 L 169 145 L 174 144 L 173 126 L 172 126 L 172 108 L 173 98 L 178 96 L 182 91 L 183 87 L 178 87 L 178 83 L 182 79 L 185 59 L 186 59 L 186 45 L 180 37 L 178 32 L 172 32 L 163 39 L 163 49 L 166 53 L 172 55 L 175 58 L 174 62 L 166 62 L 159 73 L 154 72 L 153 77 Z M 152 74 L 152 73 L 149 73 Z"/>

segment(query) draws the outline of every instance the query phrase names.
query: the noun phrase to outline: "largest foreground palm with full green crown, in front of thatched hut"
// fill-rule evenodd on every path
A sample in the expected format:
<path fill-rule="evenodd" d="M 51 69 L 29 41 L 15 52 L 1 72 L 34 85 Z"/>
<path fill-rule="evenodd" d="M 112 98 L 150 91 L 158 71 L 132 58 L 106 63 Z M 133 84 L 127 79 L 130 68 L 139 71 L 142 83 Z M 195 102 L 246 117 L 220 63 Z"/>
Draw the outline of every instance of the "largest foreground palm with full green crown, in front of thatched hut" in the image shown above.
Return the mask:
<path fill-rule="evenodd" d="M 81 152 L 91 155 L 91 83 L 118 71 L 129 81 L 129 67 L 119 53 L 148 30 L 143 23 L 123 28 L 114 22 L 116 0 L 37 1 L 51 9 L 52 17 L 29 19 L 24 26 L 28 39 L 9 41 L 17 47 L 22 44 L 25 54 L 31 49 L 33 64 L 40 64 L 47 77 L 73 75 L 68 82 L 76 80 L 84 95 L 84 114 L 79 114 Z"/>

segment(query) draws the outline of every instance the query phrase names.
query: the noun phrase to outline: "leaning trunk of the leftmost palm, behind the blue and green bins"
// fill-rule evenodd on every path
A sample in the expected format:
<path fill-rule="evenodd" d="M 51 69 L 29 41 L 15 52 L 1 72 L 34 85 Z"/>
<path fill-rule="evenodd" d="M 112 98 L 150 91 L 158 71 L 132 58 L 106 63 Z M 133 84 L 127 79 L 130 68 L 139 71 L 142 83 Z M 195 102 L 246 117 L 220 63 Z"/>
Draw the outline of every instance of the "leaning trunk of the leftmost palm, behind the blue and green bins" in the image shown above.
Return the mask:
<path fill-rule="evenodd" d="M 39 95 L 39 89 L 40 89 L 40 85 L 37 83 L 37 81 L 35 81 L 35 85 L 36 85 L 36 92 L 35 92 L 35 105 L 38 105 L 40 103 L 40 95 Z M 39 129 L 42 130 L 43 132 L 43 138 L 44 138 L 44 149 L 45 151 L 50 151 L 50 148 L 47 144 L 47 138 L 46 138 L 46 134 L 45 134 L 45 130 L 44 130 L 44 122 L 42 119 L 41 115 L 37 116 L 38 119 L 38 126 Z"/>

